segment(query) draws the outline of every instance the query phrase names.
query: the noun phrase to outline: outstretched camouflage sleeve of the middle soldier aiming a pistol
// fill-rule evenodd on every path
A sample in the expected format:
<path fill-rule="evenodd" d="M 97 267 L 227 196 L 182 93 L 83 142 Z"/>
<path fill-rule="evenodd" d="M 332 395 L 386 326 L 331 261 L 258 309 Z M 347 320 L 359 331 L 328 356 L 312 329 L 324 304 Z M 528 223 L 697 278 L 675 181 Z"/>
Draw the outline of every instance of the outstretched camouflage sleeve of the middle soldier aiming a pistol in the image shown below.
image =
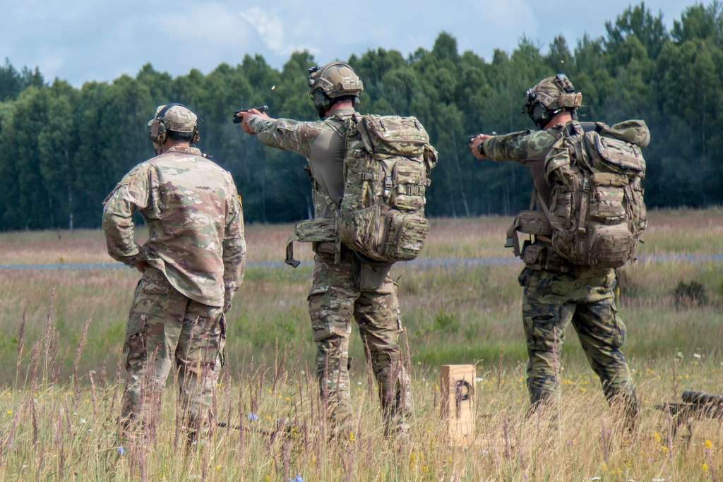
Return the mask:
<path fill-rule="evenodd" d="M 265 119 L 253 116 L 249 126 L 256 132 L 264 145 L 277 149 L 291 150 L 309 158 L 312 145 L 323 129 L 320 122 L 301 122 L 292 119 Z"/>

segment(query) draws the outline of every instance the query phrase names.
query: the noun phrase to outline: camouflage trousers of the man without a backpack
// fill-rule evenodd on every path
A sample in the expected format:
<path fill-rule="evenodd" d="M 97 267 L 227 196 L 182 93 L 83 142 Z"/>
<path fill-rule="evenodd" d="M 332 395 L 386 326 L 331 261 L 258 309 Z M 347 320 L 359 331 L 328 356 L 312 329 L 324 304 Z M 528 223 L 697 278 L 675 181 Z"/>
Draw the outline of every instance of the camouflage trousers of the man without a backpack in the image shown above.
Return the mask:
<path fill-rule="evenodd" d="M 161 271 L 148 268 L 136 288 L 124 344 L 124 426 L 158 415 L 161 391 L 176 366 L 184 423 L 193 436 L 209 414 L 225 343 L 221 308 L 190 300 Z"/>

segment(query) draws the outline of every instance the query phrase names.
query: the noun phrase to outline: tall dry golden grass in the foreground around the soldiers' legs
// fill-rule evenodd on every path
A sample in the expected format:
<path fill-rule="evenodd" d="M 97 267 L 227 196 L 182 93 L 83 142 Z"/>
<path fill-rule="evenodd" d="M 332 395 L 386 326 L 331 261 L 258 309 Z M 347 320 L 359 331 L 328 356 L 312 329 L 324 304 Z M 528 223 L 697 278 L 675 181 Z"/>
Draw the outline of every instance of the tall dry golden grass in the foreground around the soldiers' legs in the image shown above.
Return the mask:
<path fill-rule="evenodd" d="M 54 322 L 38 340 L 54 344 Z M 84 345 L 74 357 L 82 358 Z M 234 376 L 224 371 L 214 400 L 222 426 L 184 452 L 171 381 L 154 436 L 121 439 L 116 426 L 121 381 L 108 366 L 82 375 L 82 390 L 54 380 L 59 352 L 23 363 L 25 382 L 0 394 L 0 477 L 3 480 L 208 481 L 589 481 L 719 480 L 721 423 L 696 421 L 672 436 L 654 403 L 681 387 L 719 389 L 719 358 L 672 354 L 638 362 L 643 412 L 635 436 L 607 408 L 579 363 L 560 367 L 560 397 L 547 413 L 526 417 L 523 367 L 500 363 L 477 381 L 476 436 L 470 447 L 445 438 L 437 370 L 410 366 L 414 417 L 408 439 L 385 439 L 369 376 L 353 381 L 354 429 L 329 439 L 315 379 L 299 346 L 275 351 L 275 363 L 249 360 Z M 37 352 L 35 352 L 37 353 Z M 285 355 L 281 355 L 285 353 Z M 293 371 L 281 363 L 288 357 Z M 563 357 L 564 358 L 564 357 Z M 553 416 L 554 415 L 554 416 Z M 297 479 L 298 480 L 298 479 Z"/>

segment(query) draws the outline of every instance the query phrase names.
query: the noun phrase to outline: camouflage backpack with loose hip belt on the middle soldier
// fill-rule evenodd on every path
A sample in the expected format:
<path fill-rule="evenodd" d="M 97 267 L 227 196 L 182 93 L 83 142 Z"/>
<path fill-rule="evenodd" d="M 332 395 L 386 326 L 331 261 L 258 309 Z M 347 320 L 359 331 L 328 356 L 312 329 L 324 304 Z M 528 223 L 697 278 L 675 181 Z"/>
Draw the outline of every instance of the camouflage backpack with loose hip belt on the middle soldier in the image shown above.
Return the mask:
<path fill-rule="evenodd" d="M 295 266 L 291 242 L 336 241 L 372 262 L 416 258 L 429 234 L 424 217 L 429 171 L 437 151 L 414 117 L 361 116 L 346 121 L 341 205 L 321 192 L 334 218 L 302 221 L 287 244 L 286 262 Z"/>

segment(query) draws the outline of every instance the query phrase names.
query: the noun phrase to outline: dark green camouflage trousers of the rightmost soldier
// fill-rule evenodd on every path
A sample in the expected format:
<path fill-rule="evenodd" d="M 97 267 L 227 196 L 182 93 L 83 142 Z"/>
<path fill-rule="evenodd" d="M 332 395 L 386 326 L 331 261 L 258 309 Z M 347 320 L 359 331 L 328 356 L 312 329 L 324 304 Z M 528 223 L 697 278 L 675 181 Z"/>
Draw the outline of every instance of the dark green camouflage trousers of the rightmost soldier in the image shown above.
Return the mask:
<path fill-rule="evenodd" d="M 575 276 L 525 268 L 519 281 L 524 288 L 522 314 L 531 403 L 540 403 L 557 390 L 555 365 L 559 367 L 565 327 L 572 321 L 607 400 L 621 397 L 626 404 L 634 404 L 630 369 L 620 351 L 625 324 L 615 306 L 615 272 Z"/>

